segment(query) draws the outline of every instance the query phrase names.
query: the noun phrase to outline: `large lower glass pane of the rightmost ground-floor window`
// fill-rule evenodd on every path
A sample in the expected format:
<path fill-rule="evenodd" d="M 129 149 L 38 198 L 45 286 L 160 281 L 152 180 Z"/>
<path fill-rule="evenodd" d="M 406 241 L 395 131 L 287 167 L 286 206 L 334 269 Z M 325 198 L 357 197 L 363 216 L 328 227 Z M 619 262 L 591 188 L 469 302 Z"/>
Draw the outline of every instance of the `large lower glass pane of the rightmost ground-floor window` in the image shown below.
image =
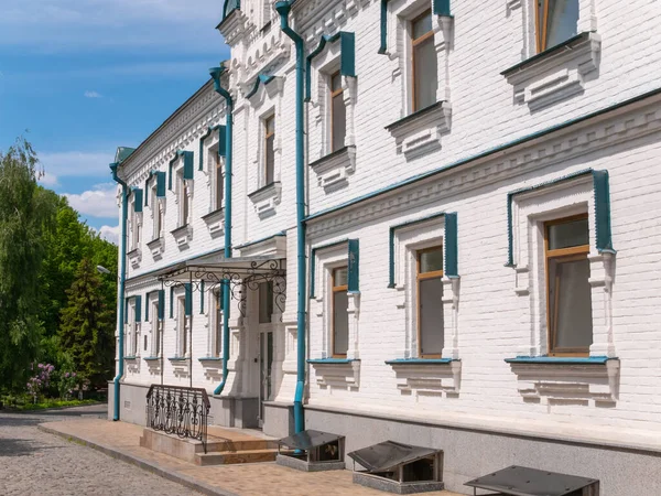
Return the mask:
<path fill-rule="evenodd" d="M 593 342 L 589 261 L 551 259 L 549 261 L 549 322 L 554 332 L 553 348 L 587 351 Z"/>

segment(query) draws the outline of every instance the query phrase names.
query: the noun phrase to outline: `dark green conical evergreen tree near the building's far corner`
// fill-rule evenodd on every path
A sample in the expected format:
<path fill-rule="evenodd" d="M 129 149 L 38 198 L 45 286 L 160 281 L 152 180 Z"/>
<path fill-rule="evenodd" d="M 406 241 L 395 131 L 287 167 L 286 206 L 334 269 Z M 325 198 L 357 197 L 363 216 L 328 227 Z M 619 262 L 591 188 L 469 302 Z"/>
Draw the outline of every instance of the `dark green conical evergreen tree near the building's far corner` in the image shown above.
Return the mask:
<path fill-rule="evenodd" d="M 112 368 L 111 312 L 104 301 L 101 279 L 89 258 L 84 258 L 76 270 L 74 283 L 67 290 L 67 305 L 62 310 L 59 344 L 72 357 L 74 366 L 100 386 Z M 110 354 L 108 353 L 110 352 Z"/>

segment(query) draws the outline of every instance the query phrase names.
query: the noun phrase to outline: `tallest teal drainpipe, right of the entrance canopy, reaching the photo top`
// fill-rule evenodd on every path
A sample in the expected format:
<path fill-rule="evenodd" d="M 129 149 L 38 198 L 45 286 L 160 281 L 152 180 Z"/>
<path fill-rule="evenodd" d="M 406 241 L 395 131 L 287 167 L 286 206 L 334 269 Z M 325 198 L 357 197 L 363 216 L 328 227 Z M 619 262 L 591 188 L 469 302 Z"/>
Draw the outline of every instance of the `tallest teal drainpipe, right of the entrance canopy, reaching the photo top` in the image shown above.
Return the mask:
<path fill-rule="evenodd" d="M 303 393 L 305 389 L 305 157 L 303 142 L 303 78 L 304 78 L 304 46 L 303 39 L 290 28 L 289 13 L 293 1 L 279 1 L 275 10 L 280 14 L 280 29 L 296 46 L 296 259 L 297 259 L 297 316 L 296 332 L 296 395 L 294 397 L 294 425 L 296 432 L 305 430 L 303 412 Z"/>

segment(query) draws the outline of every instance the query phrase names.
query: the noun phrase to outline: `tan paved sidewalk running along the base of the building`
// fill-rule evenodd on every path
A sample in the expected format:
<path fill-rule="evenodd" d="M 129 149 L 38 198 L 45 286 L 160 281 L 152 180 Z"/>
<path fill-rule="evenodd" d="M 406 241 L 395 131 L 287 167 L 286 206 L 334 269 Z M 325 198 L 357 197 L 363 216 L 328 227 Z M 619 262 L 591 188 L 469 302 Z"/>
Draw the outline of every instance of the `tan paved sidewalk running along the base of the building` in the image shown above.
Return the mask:
<path fill-rule="evenodd" d="M 139 438 L 142 428 L 124 422 L 77 419 L 46 423 L 41 425 L 41 429 L 96 448 L 111 456 L 137 464 L 209 495 L 383 496 L 386 494 L 354 485 L 349 471 L 304 473 L 282 467 L 275 463 L 196 466 L 141 448 Z M 160 490 L 158 493 L 161 494 Z M 138 494 L 145 494 L 144 488 Z M 459 496 L 445 490 L 426 494 L 430 496 Z"/>

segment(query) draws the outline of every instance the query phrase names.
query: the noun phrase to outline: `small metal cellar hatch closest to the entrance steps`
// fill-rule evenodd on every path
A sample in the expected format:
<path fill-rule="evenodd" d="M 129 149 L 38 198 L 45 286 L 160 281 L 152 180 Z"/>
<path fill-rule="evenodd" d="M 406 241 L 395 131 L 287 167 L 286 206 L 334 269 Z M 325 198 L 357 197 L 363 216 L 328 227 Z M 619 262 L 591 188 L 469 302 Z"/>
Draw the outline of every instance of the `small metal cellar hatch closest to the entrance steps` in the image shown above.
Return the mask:
<path fill-rule="evenodd" d="M 337 471 L 345 468 L 344 452 L 344 435 L 306 430 L 278 441 L 275 462 L 304 472 Z"/>

